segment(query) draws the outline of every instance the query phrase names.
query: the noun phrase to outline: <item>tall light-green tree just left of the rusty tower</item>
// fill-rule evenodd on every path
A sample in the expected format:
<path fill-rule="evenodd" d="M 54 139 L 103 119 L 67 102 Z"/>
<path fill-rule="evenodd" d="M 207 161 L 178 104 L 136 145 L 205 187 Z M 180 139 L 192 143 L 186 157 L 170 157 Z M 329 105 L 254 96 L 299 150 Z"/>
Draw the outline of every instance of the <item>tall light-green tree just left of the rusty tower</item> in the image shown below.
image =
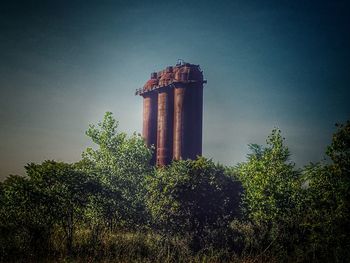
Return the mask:
<path fill-rule="evenodd" d="M 129 137 L 117 128 L 118 122 L 107 112 L 102 122 L 90 125 L 86 132 L 97 148 L 86 149 L 82 166 L 104 189 L 93 200 L 90 218 L 99 218 L 110 228 L 138 227 L 147 219 L 144 178 L 153 170 L 152 152 L 140 135 Z"/>

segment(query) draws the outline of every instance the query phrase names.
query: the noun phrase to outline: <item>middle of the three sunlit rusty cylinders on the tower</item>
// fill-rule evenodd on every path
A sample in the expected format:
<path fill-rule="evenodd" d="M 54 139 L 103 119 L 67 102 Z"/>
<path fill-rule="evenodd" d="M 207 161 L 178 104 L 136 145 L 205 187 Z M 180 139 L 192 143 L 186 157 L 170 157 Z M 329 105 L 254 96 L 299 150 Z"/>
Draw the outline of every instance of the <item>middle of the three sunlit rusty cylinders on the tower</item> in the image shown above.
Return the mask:
<path fill-rule="evenodd" d="M 168 125 L 169 95 L 167 91 L 158 94 L 157 165 L 169 163 Z"/>

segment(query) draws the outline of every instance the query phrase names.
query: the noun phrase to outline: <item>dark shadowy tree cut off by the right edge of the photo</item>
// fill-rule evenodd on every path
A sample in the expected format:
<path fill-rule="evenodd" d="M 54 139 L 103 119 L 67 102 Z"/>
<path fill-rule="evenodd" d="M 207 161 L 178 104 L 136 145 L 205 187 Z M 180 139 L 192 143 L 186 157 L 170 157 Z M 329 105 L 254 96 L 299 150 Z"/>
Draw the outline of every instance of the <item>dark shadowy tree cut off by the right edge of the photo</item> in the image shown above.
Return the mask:
<path fill-rule="evenodd" d="M 304 168 L 305 255 L 346 262 L 350 257 L 350 122 L 337 125 L 327 155 L 331 163 Z"/>

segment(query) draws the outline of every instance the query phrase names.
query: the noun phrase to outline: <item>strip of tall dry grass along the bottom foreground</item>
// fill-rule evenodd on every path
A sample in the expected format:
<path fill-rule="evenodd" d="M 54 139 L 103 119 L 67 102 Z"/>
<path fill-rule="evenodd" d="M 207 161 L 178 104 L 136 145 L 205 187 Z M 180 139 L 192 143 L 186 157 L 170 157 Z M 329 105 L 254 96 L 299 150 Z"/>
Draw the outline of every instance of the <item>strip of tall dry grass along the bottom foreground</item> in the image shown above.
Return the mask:
<path fill-rule="evenodd" d="M 75 232 L 72 254 L 68 256 L 64 233 L 55 230 L 45 253 L 11 255 L 1 262 L 40 263 L 172 263 L 172 262 L 273 262 L 271 258 L 239 257 L 226 249 L 203 248 L 198 252 L 190 249 L 190 241 L 179 236 L 164 236 L 153 231 L 100 231 L 98 237 L 91 229 L 80 228 Z"/>

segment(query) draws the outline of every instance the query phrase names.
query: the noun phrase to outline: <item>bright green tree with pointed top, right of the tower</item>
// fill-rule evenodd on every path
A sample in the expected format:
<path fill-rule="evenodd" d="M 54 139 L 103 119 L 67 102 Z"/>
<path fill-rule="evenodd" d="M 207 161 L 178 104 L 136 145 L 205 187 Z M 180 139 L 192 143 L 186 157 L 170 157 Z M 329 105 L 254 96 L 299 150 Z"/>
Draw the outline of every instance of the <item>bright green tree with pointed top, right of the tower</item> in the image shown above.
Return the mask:
<path fill-rule="evenodd" d="M 281 132 L 272 131 L 266 148 L 251 145 L 251 149 L 254 152 L 247 163 L 238 165 L 249 218 L 268 223 L 289 217 L 295 207 L 293 195 L 298 187 L 298 174 L 294 164 L 288 162 L 289 150 L 283 144 Z"/>

